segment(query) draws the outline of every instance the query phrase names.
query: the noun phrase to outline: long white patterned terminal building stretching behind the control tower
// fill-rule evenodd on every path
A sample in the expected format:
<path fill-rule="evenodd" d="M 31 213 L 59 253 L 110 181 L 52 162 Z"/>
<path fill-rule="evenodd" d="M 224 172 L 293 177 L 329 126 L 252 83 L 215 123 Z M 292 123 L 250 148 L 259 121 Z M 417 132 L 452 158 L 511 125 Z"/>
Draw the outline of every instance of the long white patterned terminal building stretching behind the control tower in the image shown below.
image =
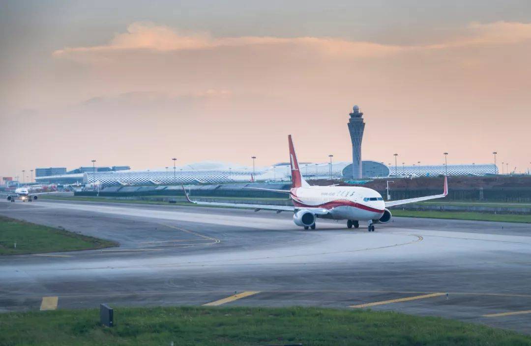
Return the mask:
<path fill-rule="evenodd" d="M 306 180 L 334 180 L 352 181 L 351 162 L 330 163 L 301 163 L 299 169 Z M 38 183 L 56 184 L 92 184 L 102 186 L 112 185 L 164 185 L 164 184 L 202 184 L 202 183 L 248 183 L 255 182 L 288 182 L 291 180 L 289 163 L 280 163 L 270 167 L 230 168 L 220 163 L 208 169 L 192 169 L 198 164 L 186 165 L 181 168 L 155 169 L 143 171 L 87 171 L 73 174 L 62 174 L 36 178 Z M 362 179 L 378 179 L 390 176 L 438 176 L 448 172 L 448 175 L 483 176 L 498 174 L 494 164 L 466 164 L 466 165 L 422 165 L 422 166 L 387 166 L 376 161 L 362 161 Z M 356 181 L 356 180 L 355 180 Z"/>

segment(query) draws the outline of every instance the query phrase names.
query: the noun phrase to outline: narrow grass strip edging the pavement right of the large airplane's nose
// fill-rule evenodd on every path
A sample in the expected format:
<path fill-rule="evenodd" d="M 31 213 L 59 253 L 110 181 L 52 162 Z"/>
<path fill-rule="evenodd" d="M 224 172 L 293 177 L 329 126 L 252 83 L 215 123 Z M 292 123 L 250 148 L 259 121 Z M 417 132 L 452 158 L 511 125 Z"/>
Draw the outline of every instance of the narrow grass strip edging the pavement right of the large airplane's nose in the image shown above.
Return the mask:
<path fill-rule="evenodd" d="M 402 217 L 531 223 L 531 215 L 518 215 L 518 214 L 489 214 L 486 212 L 474 212 L 474 211 L 433 211 L 433 210 L 424 211 L 424 210 L 401 210 L 401 209 L 391 209 L 391 213 L 393 216 L 402 216 Z"/>

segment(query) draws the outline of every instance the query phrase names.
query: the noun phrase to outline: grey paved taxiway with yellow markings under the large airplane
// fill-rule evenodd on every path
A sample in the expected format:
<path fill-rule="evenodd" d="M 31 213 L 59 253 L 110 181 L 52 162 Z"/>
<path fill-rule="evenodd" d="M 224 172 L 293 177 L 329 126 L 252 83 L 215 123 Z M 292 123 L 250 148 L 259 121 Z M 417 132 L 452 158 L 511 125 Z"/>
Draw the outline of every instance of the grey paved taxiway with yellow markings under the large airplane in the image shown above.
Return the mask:
<path fill-rule="evenodd" d="M 1 202 L 0 215 L 121 244 L 0 257 L 3 312 L 301 305 L 531 333 L 531 225 L 395 218 L 369 233 L 319 219 L 305 231 L 288 212 L 58 200 Z"/>

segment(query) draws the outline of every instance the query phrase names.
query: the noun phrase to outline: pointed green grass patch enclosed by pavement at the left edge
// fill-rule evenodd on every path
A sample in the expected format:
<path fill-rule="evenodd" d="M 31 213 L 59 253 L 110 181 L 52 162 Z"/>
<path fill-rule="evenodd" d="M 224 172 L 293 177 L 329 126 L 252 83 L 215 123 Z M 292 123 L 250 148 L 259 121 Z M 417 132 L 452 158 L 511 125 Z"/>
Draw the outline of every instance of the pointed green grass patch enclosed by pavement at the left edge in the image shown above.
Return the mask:
<path fill-rule="evenodd" d="M 63 229 L 0 216 L 0 255 L 100 249 L 116 245 Z"/>

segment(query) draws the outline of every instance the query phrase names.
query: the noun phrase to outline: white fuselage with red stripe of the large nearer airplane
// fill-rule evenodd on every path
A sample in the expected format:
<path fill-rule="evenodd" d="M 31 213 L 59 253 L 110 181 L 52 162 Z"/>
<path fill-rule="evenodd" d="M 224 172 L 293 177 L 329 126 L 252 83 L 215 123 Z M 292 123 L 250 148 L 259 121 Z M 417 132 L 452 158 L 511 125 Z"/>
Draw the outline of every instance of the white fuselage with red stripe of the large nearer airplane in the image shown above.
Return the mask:
<path fill-rule="evenodd" d="M 296 207 L 330 210 L 332 219 L 378 220 L 386 203 L 380 193 L 362 187 L 301 187 L 290 190 Z"/>

